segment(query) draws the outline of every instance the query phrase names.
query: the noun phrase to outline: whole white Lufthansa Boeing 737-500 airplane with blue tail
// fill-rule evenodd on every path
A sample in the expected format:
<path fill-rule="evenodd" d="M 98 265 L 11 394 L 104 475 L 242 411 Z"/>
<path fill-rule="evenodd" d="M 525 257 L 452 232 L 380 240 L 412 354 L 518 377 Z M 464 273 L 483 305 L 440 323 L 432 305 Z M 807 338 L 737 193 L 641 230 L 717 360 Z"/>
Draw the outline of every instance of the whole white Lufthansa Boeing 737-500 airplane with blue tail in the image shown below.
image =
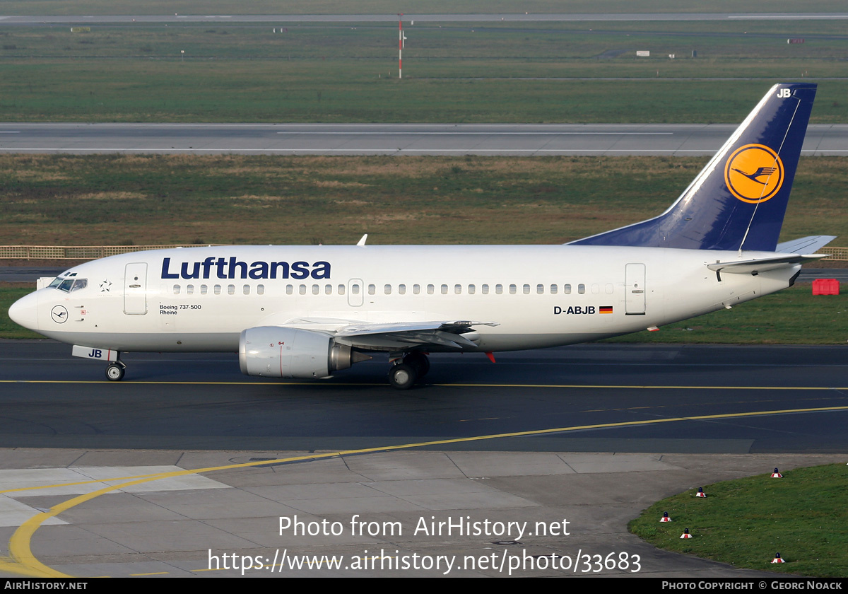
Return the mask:
<path fill-rule="evenodd" d="M 655 329 L 794 283 L 832 237 L 778 244 L 816 85 L 778 84 L 660 216 L 566 245 L 226 246 L 74 266 L 17 301 L 21 326 L 109 361 L 238 352 L 243 373 L 326 378 L 388 353 L 409 388 L 432 352 L 538 349 Z"/>

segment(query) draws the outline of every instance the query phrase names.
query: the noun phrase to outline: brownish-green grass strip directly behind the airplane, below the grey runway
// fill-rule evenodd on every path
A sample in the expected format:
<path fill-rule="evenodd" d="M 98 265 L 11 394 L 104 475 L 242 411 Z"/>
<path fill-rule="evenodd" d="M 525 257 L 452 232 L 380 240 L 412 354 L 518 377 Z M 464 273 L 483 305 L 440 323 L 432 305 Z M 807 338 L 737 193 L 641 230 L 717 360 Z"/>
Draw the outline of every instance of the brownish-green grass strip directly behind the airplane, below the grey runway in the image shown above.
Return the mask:
<path fill-rule="evenodd" d="M 705 163 L 2 154 L 0 244 L 561 244 L 660 214 Z M 846 186 L 848 159 L 801 159 L 782 240 L 848 237 Z"/>

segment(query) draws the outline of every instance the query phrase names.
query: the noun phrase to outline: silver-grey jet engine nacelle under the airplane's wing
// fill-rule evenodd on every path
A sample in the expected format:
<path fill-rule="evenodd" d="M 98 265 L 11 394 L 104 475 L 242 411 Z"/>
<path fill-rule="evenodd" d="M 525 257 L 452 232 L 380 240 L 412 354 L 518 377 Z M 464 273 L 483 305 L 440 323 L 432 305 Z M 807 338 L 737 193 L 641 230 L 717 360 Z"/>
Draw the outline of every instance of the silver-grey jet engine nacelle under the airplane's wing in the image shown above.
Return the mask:
<path fill-rule="evenodd" d="M 238 363 L 245 375 L 326 378 L 358 360 L 349 346 L 310 330 L 260 326 L 244 330 L 238 340 Z"/>

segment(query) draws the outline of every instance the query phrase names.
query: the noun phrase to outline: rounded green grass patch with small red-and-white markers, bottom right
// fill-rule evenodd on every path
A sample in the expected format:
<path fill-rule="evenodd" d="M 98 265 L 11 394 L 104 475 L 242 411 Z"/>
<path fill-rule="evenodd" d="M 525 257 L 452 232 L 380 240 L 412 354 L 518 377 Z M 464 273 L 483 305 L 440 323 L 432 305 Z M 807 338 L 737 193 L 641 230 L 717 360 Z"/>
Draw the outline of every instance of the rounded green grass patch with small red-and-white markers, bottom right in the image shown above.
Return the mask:
<path fill-rule="evenodd" d="M 832 464 L 704 485 L 657 502 L 629 524 L 654 546 L 734 567 L 848 575 L 848 467 Z M 663 512 L 671 523 L 661 524 Z M 684 528 L 694 538 L 681 540 Z M 772 564 L 775 552 L 787 563 Z"/>

